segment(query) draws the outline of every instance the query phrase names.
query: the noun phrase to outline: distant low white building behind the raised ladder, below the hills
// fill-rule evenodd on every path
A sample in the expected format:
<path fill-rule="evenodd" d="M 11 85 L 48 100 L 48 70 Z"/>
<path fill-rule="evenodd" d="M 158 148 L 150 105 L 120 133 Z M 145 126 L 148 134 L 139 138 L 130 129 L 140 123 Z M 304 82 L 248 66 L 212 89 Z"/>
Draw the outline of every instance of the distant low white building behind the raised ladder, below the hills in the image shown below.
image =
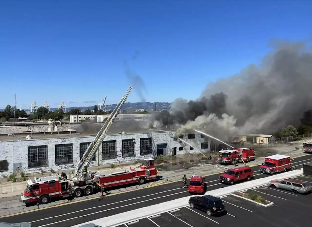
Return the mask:
<path fill-rule="evenodd" d="M 85 120 L 89 118 L 91 121 L 97 121 L 97 122 L 103 122 L 106 121 L 109 117 L 109 114 L 103 114 L 103 115 L 71 115 L 70 116 L 70 122 L 76 123 L 81 122 L 81 120 Z M 153 115 L 152 114 L 118 114 L 115 121 L 147 121 L 151 119 Z"/>

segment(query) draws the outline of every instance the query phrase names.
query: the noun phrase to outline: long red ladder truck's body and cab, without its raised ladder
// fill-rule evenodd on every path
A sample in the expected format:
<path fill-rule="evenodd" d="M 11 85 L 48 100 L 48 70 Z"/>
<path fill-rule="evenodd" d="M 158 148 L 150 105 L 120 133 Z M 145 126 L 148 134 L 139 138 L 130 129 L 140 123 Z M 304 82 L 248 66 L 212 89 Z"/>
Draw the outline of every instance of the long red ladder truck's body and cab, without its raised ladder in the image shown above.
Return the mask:
<path fill-rule="evenodd" d="M 130 183 L 144 184 L 157 178 L 158 170 L 154 168 L 154 159 L 144 159 L 146 163 L 130 170 L 111 172 L 108 175 L 100 175 L 88 171 L 87 180 L 81 181 L 62 180 L 58 175 L 47 177 L 34 177 L 26 181 L 27 187 L 21 194 L 21 201 L 29 204 L 39 202 L 46 204 L 51 198 L 65 198 L 69 196 L 80 197 L 98 192 L 104 185 L 105 188 Z"/>

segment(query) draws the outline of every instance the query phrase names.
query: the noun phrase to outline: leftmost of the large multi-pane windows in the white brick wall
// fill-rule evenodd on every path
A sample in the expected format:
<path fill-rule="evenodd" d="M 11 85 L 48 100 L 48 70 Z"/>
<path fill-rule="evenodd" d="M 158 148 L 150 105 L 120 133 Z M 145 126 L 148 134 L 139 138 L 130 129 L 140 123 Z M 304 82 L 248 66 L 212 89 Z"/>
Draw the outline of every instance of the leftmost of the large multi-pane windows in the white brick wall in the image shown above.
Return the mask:
<path fill-rule="evenodd" d="M 28 147 L 28 168 L 48 165 L 48 146 Z"/>

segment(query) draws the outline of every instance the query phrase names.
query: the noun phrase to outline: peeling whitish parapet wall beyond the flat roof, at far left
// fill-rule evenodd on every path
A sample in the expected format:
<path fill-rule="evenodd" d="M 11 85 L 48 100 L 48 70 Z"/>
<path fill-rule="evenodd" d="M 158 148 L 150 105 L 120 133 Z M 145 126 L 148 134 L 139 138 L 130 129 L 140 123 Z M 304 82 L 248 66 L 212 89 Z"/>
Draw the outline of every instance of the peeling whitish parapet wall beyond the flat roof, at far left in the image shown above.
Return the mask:
<path fill-rule="evenodd" d="M 69 129 L 74 129 L 75 126 L 72 125 L 57 125 L 57 131 L 68 131 Z M 52 129 L 54 130 L 54 128 Z M 35 126 L 7 126 L 0 127 L 0 134 L 12 134 L 22 133 L 22 132 L 47 132 L 48 124 L 46 125 L 35 125 Z"/>

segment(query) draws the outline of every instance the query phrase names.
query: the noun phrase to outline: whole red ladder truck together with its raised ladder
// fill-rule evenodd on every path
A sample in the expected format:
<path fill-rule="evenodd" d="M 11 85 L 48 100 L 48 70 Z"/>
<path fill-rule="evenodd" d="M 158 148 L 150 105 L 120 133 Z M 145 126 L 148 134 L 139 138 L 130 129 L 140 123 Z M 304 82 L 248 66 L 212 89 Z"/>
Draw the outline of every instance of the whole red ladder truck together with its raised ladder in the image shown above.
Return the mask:
<path fill-rule="evenodd" d="M 107 131 L 114 122 L 121 107 L 133 89 L 131 85 L 121 98 L 114 111 L 105 121 L 103 127 L 90 143 L 81 160 L 79 161 L 72 180 L 67 179 L 65 173 L 61 176 L 34 177 L 26 181 L 26 190 L 21 194 L 21 202 L 30 204 L 37 202 L 47 204 L 52 198 L 66 198 L 69 196 L 80 197 L 91 195 L 104 188 L 130 183 L 144 184 L 157 178 L 158 170 L 154 167 L 154 159 L 144 159 L 145 164 L 130 170 L 111 172 L 108 175 L 98 174 L 96 171 L 87 171 L 90 162 L 102 144 Z"/>

